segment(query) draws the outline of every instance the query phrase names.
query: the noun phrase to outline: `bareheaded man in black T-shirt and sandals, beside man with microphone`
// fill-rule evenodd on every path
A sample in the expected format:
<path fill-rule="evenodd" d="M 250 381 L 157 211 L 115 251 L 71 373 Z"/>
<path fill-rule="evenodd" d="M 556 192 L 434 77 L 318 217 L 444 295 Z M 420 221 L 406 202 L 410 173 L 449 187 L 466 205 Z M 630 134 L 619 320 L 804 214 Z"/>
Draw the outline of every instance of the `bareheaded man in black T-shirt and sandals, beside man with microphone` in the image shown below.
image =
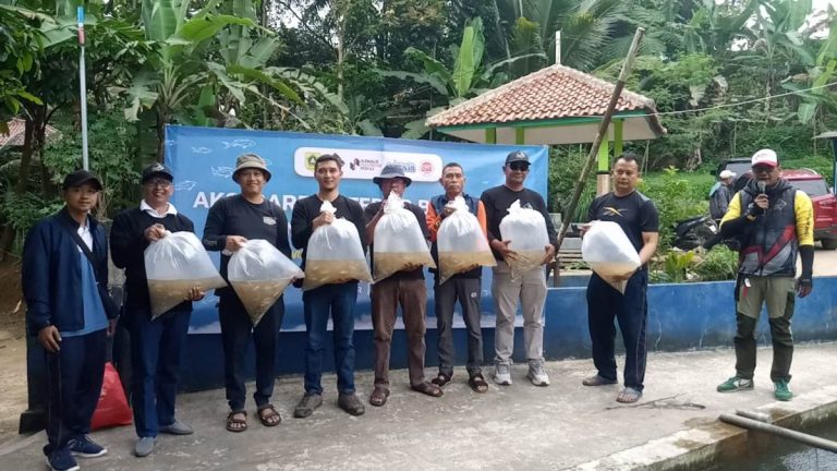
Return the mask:
<path fill-rule="evenodd" d="M 619 322 L 624 342 L 624 389 L 619 402 L 636 402 L 642 397 L 647 348 L 648 287 L 647 263 L 657 250 L 659 216 L 654 203 L 636 191 L 640 162 L 634 154 L 622 154 L 614 162 L 614 191 L 596 197 L 590 205 L 587 218 L 614 221 L 622 228 L 640 254 L 641 265 L 633 274 L 610 281 L 624 281 L 624 293 L 593 274 L 587 285 L 587 322 L 593 347 L 593 364 L 597 373 L 585 378 L 584 386 L 617 383 L 614 343 Z"/>

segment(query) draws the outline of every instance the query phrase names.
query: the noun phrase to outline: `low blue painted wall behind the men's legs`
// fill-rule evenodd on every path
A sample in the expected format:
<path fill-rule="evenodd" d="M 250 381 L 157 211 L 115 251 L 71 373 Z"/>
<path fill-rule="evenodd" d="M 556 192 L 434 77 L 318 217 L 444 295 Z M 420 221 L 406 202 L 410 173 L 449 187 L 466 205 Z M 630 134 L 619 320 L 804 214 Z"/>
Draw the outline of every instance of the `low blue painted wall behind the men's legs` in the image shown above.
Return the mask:
<path fill-rule="evenodd" d="M 571 282 L 571 285 L 579 285 Z M 731 347 L 735 335 L 733 282 L 652 285 L 648 289 L 648 350 L 677 351 Z M 546 301 L 544 350 L 548 360 L 590 358 L 590 335 L 584 287 L 550 288 Z M 793 334 L 797 341 L 837 340 L 837 277 L 815 278 L 814 291 L 797 300 Z M 488 307 L 488 306 L 484 306 Z M 430 306 L 432 309 L 432 306 Z M 437 364 L 435 325 L 427 326 L 427 365 Z M 407 367 L 403 330 L 393 338 L 392 369 Z M 759 339 L 769 342 L 766 314 L 760 319 Z M 458 363 L 465 361 L 465 331 L 454 330 Z M 483 329 L 485 358 L 494 358 L 494 329 Z M 617 335 L 617 346 L 619 345 Z M 182 386 L 186 390 L 219 387 L 223 384 L 220 335 L 190 335 L 184 358 Z M 373 365 L 371 330 L 354 336 L 357 370 Z M 515 329 L 514 358 L 522 361 L 523 333 Z M 279 341 L 280 375 L 299 374 L 304 369 L 305 333 L 282 333 Z M 252 375 L 253 351 L 246 364 Z M 332 351 L 326 351 L 326 369 L 333 369 Z M 326 388 L 335 385 L 324 384 Z M 302 392 L 302 382 L 300 382 Z"/>

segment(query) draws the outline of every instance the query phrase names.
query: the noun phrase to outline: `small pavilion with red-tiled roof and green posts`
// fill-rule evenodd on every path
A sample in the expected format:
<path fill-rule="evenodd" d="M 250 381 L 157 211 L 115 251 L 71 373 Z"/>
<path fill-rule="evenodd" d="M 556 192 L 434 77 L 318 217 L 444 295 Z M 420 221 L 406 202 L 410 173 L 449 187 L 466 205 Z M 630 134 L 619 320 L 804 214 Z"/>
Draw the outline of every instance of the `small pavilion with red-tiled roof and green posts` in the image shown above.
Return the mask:
<path fill-rule="evenodd" d="M 509 82 L 427 119 L 445 134 L 485 144 L 592 143 L 615 85 L 561 64 Z M 622 90 L 608 136 L 598 149 L 598 193 L 609 189 L 609 150 L 624 141 L 662 136 L 654 100 Z"/>

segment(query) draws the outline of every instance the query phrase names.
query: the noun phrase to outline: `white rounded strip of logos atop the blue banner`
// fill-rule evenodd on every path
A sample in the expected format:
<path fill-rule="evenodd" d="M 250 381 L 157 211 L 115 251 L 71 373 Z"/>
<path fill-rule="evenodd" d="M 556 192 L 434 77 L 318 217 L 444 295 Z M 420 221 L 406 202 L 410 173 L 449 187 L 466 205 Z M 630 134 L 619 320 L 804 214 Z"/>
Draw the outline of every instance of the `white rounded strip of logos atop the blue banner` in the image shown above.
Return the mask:
<path fill-rule="evenodd" d="M 314 177 L 317 157 L 337 154 L 343 159 L 343 178 L 372 180 L 386 165 L 398 165 L 414 181 L 435 182 L 441 177 L 441 157 L 436 154 L 363 150 L 349 148 L 300 147 L 293 155 L 293 168 L 301 177 Z"/>

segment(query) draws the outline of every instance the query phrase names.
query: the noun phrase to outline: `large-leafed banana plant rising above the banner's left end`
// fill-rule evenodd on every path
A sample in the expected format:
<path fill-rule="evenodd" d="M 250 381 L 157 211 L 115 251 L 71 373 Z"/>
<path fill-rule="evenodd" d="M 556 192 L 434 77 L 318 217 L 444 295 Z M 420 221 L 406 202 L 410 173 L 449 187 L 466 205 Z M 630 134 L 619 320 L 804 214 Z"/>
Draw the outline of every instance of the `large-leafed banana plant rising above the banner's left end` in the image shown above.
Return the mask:
<path fill-rule="evenodd" d="M 168 123 L 226 121 L 247 96 L 283 106 L 259 85 L 270 87 L 280 100 L 302 104 L 266 67 L 278 43 L 257 25 L 252 0 L 213 0 L 191 17 L 189 12 L 189 0 L 143 0 L 142 22 L 155 52 L 123 90 L 130 100 L 129 120 L 140 120 L 144 109 L 153 111 L 158 160 Z"/>

